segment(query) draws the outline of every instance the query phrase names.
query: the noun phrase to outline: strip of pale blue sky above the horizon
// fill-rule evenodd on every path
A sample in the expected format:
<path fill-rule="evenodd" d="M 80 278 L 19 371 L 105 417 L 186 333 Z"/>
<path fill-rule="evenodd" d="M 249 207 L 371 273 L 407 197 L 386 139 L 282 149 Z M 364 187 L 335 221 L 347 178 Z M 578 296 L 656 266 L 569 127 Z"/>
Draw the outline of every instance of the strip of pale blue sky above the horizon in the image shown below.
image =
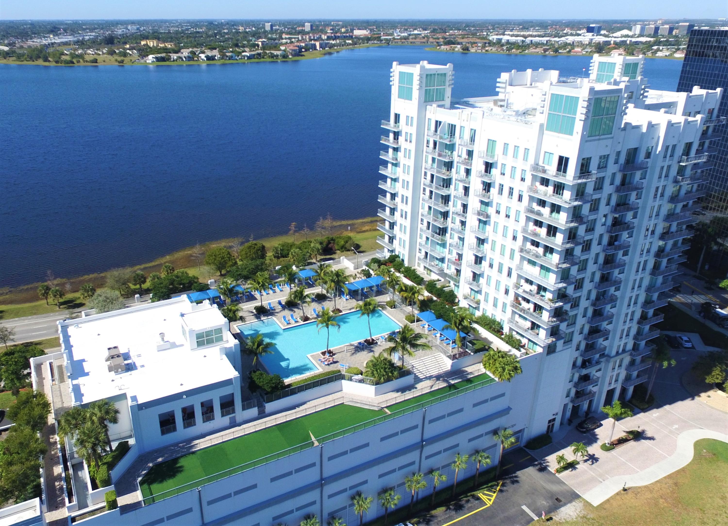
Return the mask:
<path fill-rule="evenodd" d="M 727 16 L 726 0 L 0 0 L 0 19 L 105 18 L 545 18 L 656 19 Z"/>

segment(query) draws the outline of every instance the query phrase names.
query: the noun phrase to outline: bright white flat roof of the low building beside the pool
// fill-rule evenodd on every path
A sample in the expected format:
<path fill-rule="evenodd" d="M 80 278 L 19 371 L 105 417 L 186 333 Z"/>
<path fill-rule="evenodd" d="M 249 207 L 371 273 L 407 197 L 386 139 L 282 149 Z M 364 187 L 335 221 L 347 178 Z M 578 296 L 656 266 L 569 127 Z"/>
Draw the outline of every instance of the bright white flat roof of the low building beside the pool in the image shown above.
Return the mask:
<path fill-rule="evenodd" d="M 191 348 L 188 330 L 223 327 L 223 341 Z M 207 386 L 237 375 L 221 346 L 233 346 L 226 319 L 218 308 L 196 306 L 186 296 L 106 314 L 59 322 L 63 351 L 71 365 L 75 403 L 87 404 L 121 393 L 139 403 Z M 157 350 L 160 333 L 169 348 Z M 194 340 L 194 334 L 192 336 Z M 192 342 L 192 346 L 196 346 Z M 126 372 L 109 372 L 108 348 L 118 347 Z"/>

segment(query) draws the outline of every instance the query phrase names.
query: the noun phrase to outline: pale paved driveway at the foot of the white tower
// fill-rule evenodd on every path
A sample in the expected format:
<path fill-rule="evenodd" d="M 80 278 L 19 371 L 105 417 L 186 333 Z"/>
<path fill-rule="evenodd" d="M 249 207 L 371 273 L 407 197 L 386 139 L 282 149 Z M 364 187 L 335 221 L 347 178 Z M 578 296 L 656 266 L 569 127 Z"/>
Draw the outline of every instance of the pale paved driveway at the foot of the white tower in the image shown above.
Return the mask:
<path fill-rule="evenodd" d="M 570 429 L 563 438 L 534 455 L 554 469 L 556 455 L 574 458 L 569 445 L 584 442 L 589 449 L 587 459 L 559 477 L 579 495 L 585 495 L 607 479 L 636 474 L 671 457 L 676 453 L 677 437 L 684 431 L 708 429 L 727 434 L 728 414 L 697 401 L 681 384 L 681 376 L 692 367 L 697 354 L 697 351 L 673 351 L 676 366 L 657 372 L 653 387 L 655 404 L 649 410 L 637 411 L 634 416 L 617 422 L 614 437 L 629 429 L 640 429 L 643 431 L 640 439 L 610 452 L 602 451 L 599 446 L 609 439 L 612 429 L 612 421 L 605 417 L 601 428 L 588 434 Z M 603 413 L 593 415 L 604 416 Z"/>

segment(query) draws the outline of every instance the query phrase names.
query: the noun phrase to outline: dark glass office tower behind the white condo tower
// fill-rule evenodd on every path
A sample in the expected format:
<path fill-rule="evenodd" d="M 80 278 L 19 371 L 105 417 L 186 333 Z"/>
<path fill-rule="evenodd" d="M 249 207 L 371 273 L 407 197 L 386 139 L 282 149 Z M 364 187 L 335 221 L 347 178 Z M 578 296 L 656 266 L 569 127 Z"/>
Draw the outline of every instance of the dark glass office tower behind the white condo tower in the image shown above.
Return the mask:
<path fill-rule="evenodd" d="M 691 92 L 693 87 L 728 89 L 728 29 L 692 29 L 683 60 L 678 92 Z M 709 155 L 708 195 L 703 199 L 705 210 L 728 215 L 728 97 L 724 95 L 717 111 L 708 113 L 700 135 L 701 148 Z M 710 124 L 713 124 L 711 126 Z M 711 140 L 711 138 L 716 139 Z M 724 221 L 713 222 L 724 228 Z M 724 237 L 728 231 L 719 235 Z"/>

